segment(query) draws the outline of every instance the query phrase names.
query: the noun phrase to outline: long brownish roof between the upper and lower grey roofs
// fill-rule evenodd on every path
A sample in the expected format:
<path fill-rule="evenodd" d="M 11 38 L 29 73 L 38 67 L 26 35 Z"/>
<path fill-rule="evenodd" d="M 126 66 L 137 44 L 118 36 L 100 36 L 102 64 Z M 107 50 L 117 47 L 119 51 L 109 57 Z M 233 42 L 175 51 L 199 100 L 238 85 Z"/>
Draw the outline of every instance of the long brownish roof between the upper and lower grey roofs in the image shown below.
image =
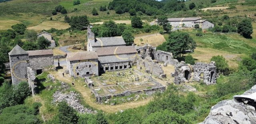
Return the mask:
<path fill-rule="evenodd" d="M 120 55 L 128 53 L 137 53 L 133 46 L 100 47 L 96 50 L 98 56 Z"/>

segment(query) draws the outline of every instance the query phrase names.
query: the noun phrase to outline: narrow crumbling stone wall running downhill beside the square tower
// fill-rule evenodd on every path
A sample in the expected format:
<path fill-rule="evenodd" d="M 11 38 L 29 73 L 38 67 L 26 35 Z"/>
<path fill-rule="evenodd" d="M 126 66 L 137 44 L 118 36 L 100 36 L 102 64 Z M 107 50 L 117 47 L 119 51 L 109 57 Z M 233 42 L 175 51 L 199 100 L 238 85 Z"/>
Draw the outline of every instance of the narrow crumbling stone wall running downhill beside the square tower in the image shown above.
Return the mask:
<path fill-rule="evenodd" d="M 27 75 L 28 75 L 28 84 L 31 88 L 32 95 L 36 93 L 36 73 L 32 70 L 31 67 L 27 67 Z"/>

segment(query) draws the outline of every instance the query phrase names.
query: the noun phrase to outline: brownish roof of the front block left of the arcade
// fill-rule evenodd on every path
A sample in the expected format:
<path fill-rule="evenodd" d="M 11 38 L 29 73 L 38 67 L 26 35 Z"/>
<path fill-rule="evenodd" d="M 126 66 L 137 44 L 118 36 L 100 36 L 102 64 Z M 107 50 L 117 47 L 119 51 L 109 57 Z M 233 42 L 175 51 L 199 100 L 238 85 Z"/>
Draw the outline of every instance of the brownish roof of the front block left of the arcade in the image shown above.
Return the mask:
<path fill-rule="evenodd" d="M 95 51 L 81 51 L 76 53 L 67 53 L 67 59 L 69 61 L 98 59 L 98 55 Z"/>

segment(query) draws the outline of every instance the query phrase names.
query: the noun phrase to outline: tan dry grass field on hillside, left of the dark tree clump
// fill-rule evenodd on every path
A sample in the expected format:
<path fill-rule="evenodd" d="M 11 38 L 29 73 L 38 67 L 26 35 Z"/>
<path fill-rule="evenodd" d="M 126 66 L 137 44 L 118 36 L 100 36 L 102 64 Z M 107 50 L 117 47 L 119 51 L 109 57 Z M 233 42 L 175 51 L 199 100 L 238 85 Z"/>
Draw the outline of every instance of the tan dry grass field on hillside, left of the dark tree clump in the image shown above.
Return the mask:
<path fill-rule="evenodd" d="M 70 26 L 68 25 L 68 23 L 64 23 L 64 22 L 44 21 L 41 24 L 38 24 L 37 26 L 28 27 L 27 29 L 41 31 L 41 30 L 50 30 L 51 28 L 62 30 L 62 29 L 67 29 L 69 27 Z"/>

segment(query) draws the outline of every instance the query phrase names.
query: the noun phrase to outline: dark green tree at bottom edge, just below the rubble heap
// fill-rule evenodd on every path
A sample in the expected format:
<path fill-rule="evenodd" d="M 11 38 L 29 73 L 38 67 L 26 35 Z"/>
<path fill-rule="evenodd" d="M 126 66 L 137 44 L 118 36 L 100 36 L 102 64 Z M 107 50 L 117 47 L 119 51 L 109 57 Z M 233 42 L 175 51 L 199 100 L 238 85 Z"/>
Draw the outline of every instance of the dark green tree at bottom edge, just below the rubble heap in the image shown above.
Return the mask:
<path fill-rule="evenodd" d="M 66 102 L 60 102 L 58 104 L 58 114 L 59 124 L 77 124 L 78 116 L 76 111 L 68 106 Z"/>

